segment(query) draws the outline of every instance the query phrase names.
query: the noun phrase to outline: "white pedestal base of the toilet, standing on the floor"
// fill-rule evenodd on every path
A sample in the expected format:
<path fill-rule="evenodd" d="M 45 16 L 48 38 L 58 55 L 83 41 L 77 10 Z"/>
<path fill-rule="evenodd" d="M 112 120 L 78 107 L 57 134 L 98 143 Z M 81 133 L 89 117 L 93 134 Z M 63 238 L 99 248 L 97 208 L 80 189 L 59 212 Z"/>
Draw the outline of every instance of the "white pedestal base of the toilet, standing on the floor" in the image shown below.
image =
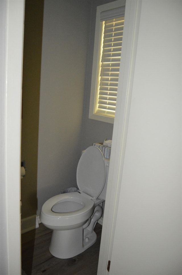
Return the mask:
<path fill-rule="evenodd" d="M 72 258 L 92 246 L 97 240 L 97 234 L 92 231 L 83 240 L 83 228 L 71 230 L 53 230 L 49 251 L 60 259 Z"/>

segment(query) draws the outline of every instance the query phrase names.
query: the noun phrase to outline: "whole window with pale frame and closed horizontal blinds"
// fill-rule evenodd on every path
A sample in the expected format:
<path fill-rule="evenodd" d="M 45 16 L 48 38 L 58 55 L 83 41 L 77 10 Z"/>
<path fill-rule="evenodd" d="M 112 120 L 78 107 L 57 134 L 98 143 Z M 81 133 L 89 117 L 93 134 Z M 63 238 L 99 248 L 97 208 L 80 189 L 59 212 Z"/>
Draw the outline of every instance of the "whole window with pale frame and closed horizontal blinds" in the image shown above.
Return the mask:
<path fill-rule="evenodd" d="M 125 7 L 97 8 L 89 118 L 114 122 Z M 113 7 L 112 9 L 108 7 Z"/>

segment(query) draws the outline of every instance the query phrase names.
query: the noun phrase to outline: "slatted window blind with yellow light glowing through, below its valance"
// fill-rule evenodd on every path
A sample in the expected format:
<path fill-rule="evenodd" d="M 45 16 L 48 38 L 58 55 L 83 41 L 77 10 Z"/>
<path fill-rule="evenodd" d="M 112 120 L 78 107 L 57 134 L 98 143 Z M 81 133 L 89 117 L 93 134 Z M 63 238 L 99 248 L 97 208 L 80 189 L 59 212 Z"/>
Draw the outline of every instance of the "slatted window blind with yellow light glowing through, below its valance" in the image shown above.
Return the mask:
<path fill-rule="evenodd" d="M 102 51 L 95 113 L 115 116 L 124 17 L 103 21 Z"/>

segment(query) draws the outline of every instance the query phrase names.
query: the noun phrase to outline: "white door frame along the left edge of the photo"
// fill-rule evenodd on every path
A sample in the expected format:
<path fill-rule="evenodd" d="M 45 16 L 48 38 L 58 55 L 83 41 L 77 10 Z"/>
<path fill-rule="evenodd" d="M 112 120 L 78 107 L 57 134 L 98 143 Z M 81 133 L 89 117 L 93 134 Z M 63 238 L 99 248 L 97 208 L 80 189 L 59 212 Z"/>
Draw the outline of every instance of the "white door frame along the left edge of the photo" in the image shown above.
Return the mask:
<path fill-rule="evenodd" d="M 24 0 L 0 1 L 0 273 L 21 274 L 20 143 Z"/>

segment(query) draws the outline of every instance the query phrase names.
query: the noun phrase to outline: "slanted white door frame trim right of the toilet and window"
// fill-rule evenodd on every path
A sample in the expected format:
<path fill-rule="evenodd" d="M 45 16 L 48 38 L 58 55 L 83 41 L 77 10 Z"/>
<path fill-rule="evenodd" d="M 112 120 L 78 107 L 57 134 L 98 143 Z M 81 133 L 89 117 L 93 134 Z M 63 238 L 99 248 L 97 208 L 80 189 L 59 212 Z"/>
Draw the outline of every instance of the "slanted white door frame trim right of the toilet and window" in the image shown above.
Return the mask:
<path fill-rule="evenodd" d="M 107 263 L 111 260 L 117 209 L 119 205 L 119 194 L 125 157 L 135 71 L 135 59 L 137 53 L 141 5 L 142 0 L 126 0 L 121 67 L 118 82 L 118 91 L 120 91 L 120 93 L 118 92 L 117 94 L 117 105 L 113 127 L 112 150 L 107 181 L 106 203 L 104 208 L 97 272 L 98 275 L 109 274 L 107 271 Z"/>

